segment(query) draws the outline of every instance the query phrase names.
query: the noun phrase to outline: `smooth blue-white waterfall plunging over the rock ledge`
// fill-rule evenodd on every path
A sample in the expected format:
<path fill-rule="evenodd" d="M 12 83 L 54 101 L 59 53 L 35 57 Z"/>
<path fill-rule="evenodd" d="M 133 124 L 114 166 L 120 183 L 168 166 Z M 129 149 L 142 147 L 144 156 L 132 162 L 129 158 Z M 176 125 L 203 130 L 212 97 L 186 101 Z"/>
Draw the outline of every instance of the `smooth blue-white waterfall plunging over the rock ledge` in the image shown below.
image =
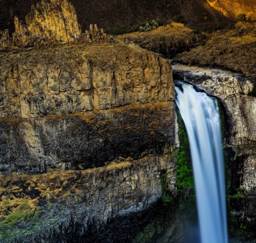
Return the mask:
<path fill-rule="evenodd" d="M 176 104 L 189 136 L 201 243 L 228 243 L 218 105 L 192 85 L 181 86 Z"/>

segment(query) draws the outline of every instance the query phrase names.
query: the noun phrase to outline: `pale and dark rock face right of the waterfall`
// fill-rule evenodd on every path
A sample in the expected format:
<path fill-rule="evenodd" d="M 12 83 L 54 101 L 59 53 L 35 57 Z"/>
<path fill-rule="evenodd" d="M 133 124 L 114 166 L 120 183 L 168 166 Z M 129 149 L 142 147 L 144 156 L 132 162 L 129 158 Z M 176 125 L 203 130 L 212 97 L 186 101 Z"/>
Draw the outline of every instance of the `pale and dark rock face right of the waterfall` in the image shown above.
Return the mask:
<path fill-rule="evenodd" d="M 252 230 L 256 224 L 256 80 L 229 71 L 183 65 L 173 68 L 174 76 L 217 97 L 222 104 L 229 207 Z"/>

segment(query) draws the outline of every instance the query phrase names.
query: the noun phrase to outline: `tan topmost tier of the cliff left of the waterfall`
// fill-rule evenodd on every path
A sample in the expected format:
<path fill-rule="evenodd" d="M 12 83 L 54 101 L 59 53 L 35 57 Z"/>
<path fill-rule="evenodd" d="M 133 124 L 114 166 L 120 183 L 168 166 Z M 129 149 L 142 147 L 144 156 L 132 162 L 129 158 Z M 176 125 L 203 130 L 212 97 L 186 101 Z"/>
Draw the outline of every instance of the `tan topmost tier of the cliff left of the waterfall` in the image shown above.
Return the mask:
<path fill-rule="evenodd" d="M 40 117 L 174 98 L 170 61 L 136 46 L 1 55 L 0 117 Z"/>

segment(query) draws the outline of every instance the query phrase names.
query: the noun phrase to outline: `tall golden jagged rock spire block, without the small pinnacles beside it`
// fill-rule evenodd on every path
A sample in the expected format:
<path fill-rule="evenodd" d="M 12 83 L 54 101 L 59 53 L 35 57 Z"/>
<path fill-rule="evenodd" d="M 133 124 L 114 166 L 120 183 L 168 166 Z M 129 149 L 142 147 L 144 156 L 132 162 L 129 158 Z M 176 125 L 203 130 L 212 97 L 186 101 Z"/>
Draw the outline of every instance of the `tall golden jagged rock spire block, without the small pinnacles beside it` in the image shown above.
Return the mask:
<path fill-rule="evenodd" d="M 75 9 L 68 0 L 42 0 L 36 6 L 32 5 L 25 23 L 18 17 L 14 23 L 13 39 L 22 43 L 35 37 L 72 42 L 82 36 Z"/>

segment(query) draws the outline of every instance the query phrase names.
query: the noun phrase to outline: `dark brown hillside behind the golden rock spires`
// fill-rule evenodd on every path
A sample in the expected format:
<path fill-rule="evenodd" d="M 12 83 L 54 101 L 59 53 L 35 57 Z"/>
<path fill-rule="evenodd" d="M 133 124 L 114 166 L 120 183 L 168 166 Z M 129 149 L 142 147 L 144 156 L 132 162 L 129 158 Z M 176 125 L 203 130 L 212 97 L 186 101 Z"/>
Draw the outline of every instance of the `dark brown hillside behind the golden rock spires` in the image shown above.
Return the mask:
<path fill-rule="evenodd" d="M 232 22 L 210 7 L 207 0 L 70 0 L 83 28 L 90 23 L 98 24 L 107 31 L 132 27 L 152 19 L 169 23 L 171 18 L 182 14 L 188 26 L 214 27 Z M 30 11 L 38 0 L 0 0 L 0 29 L 14 31 L 13 18 L 20 19 Z"/>

